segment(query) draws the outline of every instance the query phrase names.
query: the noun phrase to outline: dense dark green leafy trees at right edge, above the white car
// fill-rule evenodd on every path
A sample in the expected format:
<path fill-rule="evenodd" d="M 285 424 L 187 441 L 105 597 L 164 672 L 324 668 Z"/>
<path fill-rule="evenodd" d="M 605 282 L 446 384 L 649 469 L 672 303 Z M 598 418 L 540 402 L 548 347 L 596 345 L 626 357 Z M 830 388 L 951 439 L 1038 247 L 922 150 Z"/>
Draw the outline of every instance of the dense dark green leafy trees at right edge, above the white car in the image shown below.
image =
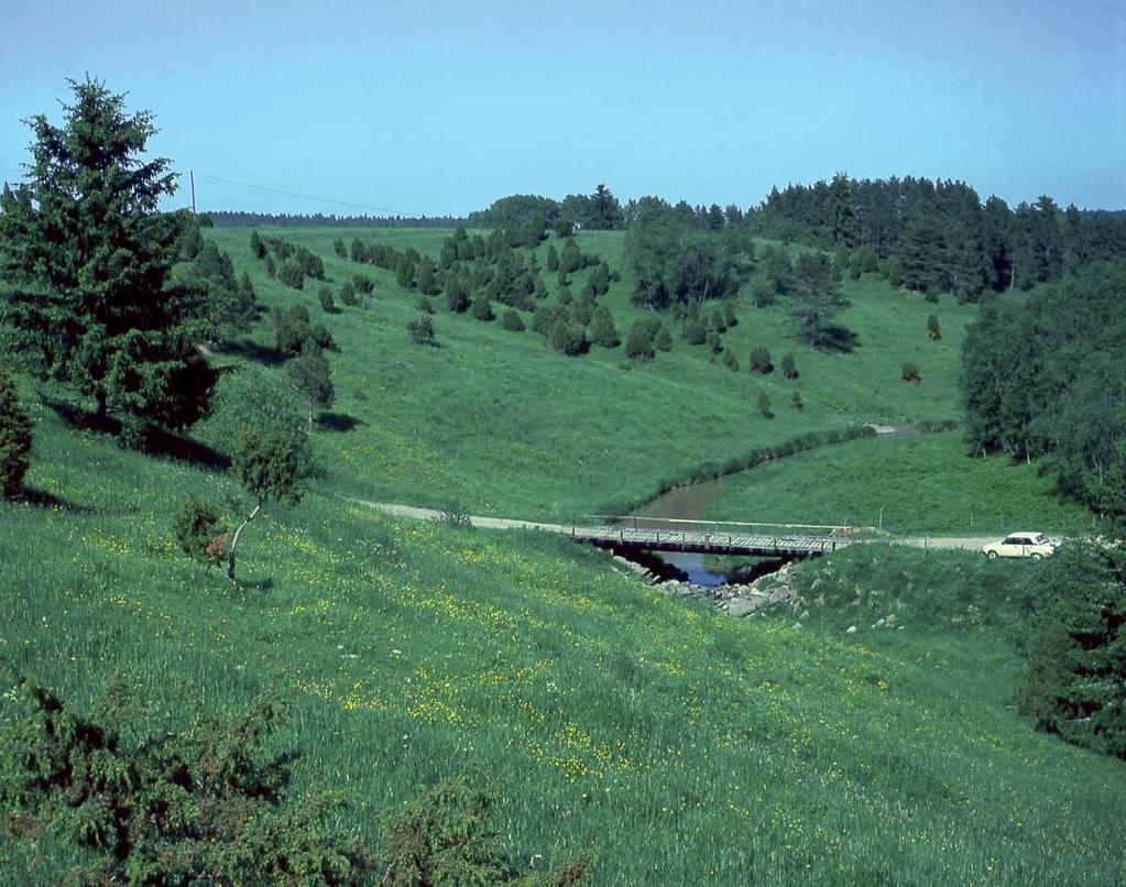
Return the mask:
<path fill-rule="evenodd" d="M 988 296 L 965 343 L 968 432 L 988 453 L 1049 456 L 1062 489 L 1126 518 L 1126 261 Z"/>

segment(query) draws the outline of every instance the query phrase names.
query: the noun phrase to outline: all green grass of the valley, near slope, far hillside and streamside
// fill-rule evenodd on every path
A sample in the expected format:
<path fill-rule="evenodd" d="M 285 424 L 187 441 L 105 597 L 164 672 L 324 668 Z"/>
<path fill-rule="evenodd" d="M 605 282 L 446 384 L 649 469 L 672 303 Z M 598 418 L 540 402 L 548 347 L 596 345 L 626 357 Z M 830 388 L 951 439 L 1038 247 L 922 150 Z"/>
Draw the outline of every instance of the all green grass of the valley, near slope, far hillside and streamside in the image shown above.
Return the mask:
<path fill-rule="evenodd" d="M 439 311 L 441 347 L 415 347 L 404 330 L 415 297 L 332 254 L 357 232 L 278 233 L 316 248 L 334 287 L 357 270 L 376 281 L 369 307 L 324 315 L 341 349 L 329 356 L 332 424 L 347 429 L 314 431 L 328 478 L 251 525 L 231 585 L 182 556 L 170 517 L 189 492 L 235 514 L 245 503 L 225 473 L 75 430 L 21 379 L 36 422 L 26 484 L 43 504 L 0 503 L 0 655 L 83 709 L 125 675 L 154 733 L 184 726 L 190 697 L 230 709 L 274 687 L 292 702 L 278 742 L 301 755 L 296 788 L 342 792 L 343 821 L 373 842 L 377 814 L 466 774 L 499 792 L 515 858 L 584 854 L 595 884 L 1120 882 L 1123 764 L 1035 733 L 1011 708 L 1030 565 L 846 553 L 806 567 L 803 586 L 825 590 L 808 615 L 738 621 L 565 539 L 396 522 L 345 501 L 564 517 L 804 431 L 955 418 L 972 307 L 846 284 L 842 319 L 861 348 L 839 357 L 788 339 L 784 304 L 741 303 L 725 338 L 744 362 L 752 343 L 775 362 L 794 351 L 797 413 L 778 374 L 735 376 L 679 340 L 624 369 L 620 349 L 560 357 L 530 332 Z M 429 252 L 444 236 L 359 233 Z M 318 316 L 319 285 L 267 280 L 249 232 L 208 236 L 265 303 L 303 301 Z M 580 243 L 619 260 L 619 234 Z M 628 286 L 606 297 L 623 332 L 636 315 Z M 271 342 L 268 321 L 251 341 Z M 908 359 L 920 385 L 899 380 Z M 762 387 L 774 420 L 753 410 Z M 222 413 L 193 434 L 220 451 L 230 441 Z M 781 514 L 793 498 L 805 518 L 886 499 L 885 522 L 905 523 L 911 500 L 929 496 L 932 528 L 953 529 L 981 500 L 944 478 L 966 475 L 974 496 L 1019 504 L 1046 529 L 1073 519 L 1035 471 L 960 458 L 953 434 L 856 441 L 729 478 L 715 508 L 766 502 Z M 895 477 L 894 498 L 863 489 L 864 475 Z M 870 628 L 885 603 L 903 629 Z M 20 882 L 57 882 L 73 861 L 51 835 L 0 845 L 0 871 Z"/>

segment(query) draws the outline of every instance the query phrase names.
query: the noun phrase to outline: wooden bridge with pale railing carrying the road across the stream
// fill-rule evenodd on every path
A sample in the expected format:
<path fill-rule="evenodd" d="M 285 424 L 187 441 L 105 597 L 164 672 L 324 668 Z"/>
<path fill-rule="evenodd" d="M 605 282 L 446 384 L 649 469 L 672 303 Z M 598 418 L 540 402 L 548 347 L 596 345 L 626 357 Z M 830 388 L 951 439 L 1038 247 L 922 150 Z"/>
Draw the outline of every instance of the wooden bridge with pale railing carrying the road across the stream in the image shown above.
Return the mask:
<path fill-rule="evenodd" d="M 849 545 L 849 527 L 785 523 L 718 523 L 614 514 L 589 516 L 591 525 L 572 527 L 571 538 L 599 548 L 756 557 L 816 557 Z"/>

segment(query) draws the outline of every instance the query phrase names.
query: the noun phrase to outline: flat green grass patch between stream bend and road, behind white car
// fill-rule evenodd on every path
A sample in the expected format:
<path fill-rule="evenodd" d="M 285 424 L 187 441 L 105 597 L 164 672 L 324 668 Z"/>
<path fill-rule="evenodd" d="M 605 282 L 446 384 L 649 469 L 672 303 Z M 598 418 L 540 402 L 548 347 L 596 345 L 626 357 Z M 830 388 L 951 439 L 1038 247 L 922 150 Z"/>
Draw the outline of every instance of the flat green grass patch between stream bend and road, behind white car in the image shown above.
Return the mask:
<path fill-rule="evenodd" d="M 883 526 L 904 534 L 981 535 L 1021 527 L 1091 528 L 1090 514 L 1053 494 L 1036 465 L 975 458 L 960 433 L 867 438 L 823 447 L 727 477 L 712 520 Z"/>

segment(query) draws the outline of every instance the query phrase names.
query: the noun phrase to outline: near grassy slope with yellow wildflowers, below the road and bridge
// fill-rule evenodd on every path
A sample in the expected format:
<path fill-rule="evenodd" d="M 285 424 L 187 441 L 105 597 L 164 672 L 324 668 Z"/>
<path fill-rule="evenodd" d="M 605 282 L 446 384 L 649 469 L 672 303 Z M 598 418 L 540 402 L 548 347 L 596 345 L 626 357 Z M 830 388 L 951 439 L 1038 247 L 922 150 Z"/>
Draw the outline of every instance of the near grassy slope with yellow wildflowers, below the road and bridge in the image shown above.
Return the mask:
<path fill-rule="evenodd" d="M 1009 634 L 942 616 L 1008 617 L 1011 565 L 844 561 L 824 615 L 792 628 L 665 599 L 562 539 L 316 495 L 251 528 L 232 586 L 178 556 L 168 517 L 231 492 L 223 475 L 35 418 L 28 484 L 54 504 L 0 505 L 3 654 L 80 707 L 126 675 L 154 732 L 185 725 L 188 695 L 238 707 L 274 684 L 297 787 L 342 791 L 368 839 L 413 788 L 467 773 L 500 792 L 507 848 L 586 853 L 598 884 L 1111 884 L 1126 866 L 1121 763 L 1034 733 L 1007 707 Z M 908 628 L 844 634 L 859 583 L 902 597 Z M 24 882 L 71 859 L 50 836 L 0 846 Z"/>

